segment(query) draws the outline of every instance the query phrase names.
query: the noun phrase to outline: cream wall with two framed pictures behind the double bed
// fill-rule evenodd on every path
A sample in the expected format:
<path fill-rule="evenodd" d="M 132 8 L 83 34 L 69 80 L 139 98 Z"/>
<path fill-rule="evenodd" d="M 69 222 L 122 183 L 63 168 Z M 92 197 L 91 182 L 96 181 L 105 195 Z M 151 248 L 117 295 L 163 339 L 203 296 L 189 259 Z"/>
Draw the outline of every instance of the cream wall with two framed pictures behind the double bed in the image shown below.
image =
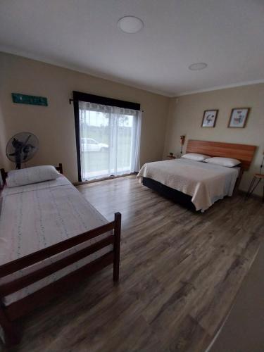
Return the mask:
<path fill-rule="evenodd" d="M 227 128 L 232 108 L 249 107 L 245 128 Z M 201 127 L 203 111 L 219 109 L 215 128 Z M 260 171 L 264 151 L 264 84 L 220 89 L 170 99 L 168 125 L 163 156 L 180 153 L 180 135 L 187 139 L 252 144 L 258 146 L 253 163 L 244 173 L 240 188 L 247 190 L 254 172 Z M 184 145 L 184 150 L 187 141 Z M 264 171 L 264 170 L 263 170 Z M 261 187 L 256 192 L 262 193 Z"/>

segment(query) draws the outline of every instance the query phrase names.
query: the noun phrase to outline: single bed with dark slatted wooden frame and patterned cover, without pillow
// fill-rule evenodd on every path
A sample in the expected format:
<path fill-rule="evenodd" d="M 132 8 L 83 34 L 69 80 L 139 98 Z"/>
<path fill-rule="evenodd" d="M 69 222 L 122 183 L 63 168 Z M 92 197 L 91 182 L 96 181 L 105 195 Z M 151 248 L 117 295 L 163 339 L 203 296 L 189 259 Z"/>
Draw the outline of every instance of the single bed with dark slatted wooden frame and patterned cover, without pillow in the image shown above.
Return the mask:
<path fill-rule="evenodd" d="M 108 222 L 63 175 L 4 187 L 0 215 L 0 325 L 8 344 L 19 341 L 15 320 L 82 277 L 112 263 L 118 281 L 120 213 Z"/>

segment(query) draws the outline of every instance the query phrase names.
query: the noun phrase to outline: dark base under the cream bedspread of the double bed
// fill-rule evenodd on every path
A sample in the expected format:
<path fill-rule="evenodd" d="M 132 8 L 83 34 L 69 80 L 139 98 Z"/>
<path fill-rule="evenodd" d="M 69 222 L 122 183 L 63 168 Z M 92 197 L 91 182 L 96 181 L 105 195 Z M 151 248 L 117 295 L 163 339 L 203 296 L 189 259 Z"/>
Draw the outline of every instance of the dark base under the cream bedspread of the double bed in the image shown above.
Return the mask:
<path fill-rule="evenodd" d="M 143 177 L 143 184 L 153 191 L 157 191 L 161 196 L 165 198 L 171 199 L 175 203 L 188 208 L 189 210 L 196 211 L 194 203 L 191 203 L 191 196 L 182 193 L 181 191 L 177 191 L 176 189 L 172 189 L 161 182 L 154 181 L 151 178 Z"/>

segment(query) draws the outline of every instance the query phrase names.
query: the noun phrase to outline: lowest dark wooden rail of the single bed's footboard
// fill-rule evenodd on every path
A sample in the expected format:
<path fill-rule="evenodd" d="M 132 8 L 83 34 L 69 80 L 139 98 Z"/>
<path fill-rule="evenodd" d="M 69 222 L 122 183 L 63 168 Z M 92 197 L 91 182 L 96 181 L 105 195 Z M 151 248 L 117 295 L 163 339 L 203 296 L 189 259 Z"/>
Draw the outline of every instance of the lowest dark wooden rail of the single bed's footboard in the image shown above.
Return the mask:
<path fill-rule="evenodd" d="M 104 256 L 92 261 L 92 263 L 82 266 L 82 268 L 56 280 L 43 289 L 39 289 L 33 294 L 20 299 L 20 301 L 12 303 L 10 306 L 6 306 L 4 311 L 8 315 L 9 320 L 16 320 L 29 313 L 31 310 L 34 310 L 34 308 L 43 306 L 52 298 L 61 296 L 61 292 L 74 289 L 75 284 L 82 281 L 84 277 L 89 277 L 95 272 L 98 272 L 99 270 L 112 264 L 113 256 L 113 251 L 106 253 Z"/>

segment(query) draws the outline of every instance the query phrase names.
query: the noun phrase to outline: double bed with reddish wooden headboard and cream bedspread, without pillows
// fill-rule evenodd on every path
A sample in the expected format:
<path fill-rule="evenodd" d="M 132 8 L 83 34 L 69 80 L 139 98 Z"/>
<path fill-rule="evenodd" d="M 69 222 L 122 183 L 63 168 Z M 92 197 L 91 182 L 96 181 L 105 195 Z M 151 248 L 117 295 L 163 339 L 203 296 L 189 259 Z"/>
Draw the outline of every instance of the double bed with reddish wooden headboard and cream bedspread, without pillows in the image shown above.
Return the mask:
<path fill-rule="evenodd" d="M 191 210 L 205 211 L 224 198 L 232 196 L 244 170 L 249 170 L 256 146 L 189 140 L 187 153 L 236 158 L 239 168 L 227 168 L 201 161 L 176 159 L 146 163 L 137 177 L 146 187 L 158 191 Z"/>

